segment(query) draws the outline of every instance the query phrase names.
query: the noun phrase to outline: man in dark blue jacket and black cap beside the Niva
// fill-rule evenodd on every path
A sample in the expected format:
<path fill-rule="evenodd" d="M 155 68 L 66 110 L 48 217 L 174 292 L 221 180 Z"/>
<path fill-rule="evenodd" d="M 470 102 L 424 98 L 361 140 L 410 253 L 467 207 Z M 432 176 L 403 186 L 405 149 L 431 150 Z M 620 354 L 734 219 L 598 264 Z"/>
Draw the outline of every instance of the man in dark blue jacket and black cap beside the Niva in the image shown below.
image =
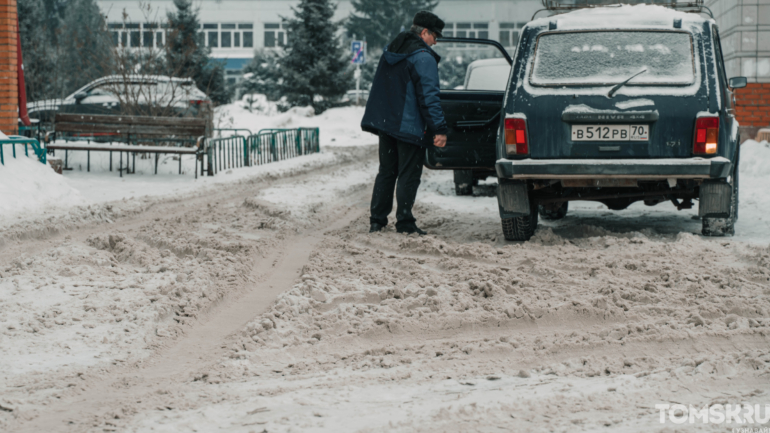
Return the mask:
<path fill-rule="evenodd" d="M 419 233 L 412 206 L 420 186 L 425 149 L 446 146 L 447 126 L 439 99 L 438 62 L 430 46 L 444 21 L 418 12 L 412 28 L 385 47 L 374 75 L 361 129 L 380 136 L 380 170 L 374 181 L 369 232 L 388 225 L 396 188 L 396 231 Z"/>

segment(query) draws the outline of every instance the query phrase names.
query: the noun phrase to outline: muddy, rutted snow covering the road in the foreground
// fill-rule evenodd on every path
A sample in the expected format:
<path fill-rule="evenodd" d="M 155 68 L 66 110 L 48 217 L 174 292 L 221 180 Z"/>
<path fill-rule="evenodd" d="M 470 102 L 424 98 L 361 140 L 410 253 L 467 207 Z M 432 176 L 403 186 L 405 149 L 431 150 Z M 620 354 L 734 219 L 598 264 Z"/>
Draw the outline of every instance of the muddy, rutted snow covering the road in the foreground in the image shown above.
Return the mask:
<path fill-rule="evenodd" d="M 176 191 L 137 175 L 163 194 L 118 201 L 68 173 L 89 204 L 9 218 L 0 431 L 736 427 L 659 404 L 760 405 L 737 427 L 770 427 L 766 143 L 742 149 L 734 237 L 668 204 L 576 203 L 511 243 L 495 182 L 457 197 L 450 172 L 423 176 L 428 236 L 369 234 L 368 139 Z"/>

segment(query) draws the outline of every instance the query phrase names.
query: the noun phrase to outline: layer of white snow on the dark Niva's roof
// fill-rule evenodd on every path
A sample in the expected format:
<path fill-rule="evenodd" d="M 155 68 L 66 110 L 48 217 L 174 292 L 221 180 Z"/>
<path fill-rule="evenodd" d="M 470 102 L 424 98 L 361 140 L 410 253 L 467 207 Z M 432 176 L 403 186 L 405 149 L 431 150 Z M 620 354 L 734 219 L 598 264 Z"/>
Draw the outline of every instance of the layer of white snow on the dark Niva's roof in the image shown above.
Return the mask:
<path fill-rule="evenodd" d="M 657 5 L 620 5 L 578 9 L 565 14 L 538 18 L 527 24 L 548 26 L 556 21 L 557 30 L 619 29 L 619 28 L 673 28 L 674 20 L 682 20 L 688 27 L 713 21 L 696 13 L 682 12 Z"/>

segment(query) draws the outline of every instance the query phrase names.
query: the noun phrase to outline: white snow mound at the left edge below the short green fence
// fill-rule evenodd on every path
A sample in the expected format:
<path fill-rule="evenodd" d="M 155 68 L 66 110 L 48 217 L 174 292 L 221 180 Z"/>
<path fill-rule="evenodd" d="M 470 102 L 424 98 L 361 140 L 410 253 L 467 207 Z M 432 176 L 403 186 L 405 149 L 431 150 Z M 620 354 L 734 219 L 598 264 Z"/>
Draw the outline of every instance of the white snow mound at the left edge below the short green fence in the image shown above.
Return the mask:
<path fill-rule="evenodd" d="M 86 204 L 79 191 L 48 164 L 24 155 L 24 146 L 17 145 L 16 158 L 6 146 L 5 165 L 0 165 L 0 220 L 37 212 L 44 207 Z M 30 155 L 32 155 L 30 153 Z"/>

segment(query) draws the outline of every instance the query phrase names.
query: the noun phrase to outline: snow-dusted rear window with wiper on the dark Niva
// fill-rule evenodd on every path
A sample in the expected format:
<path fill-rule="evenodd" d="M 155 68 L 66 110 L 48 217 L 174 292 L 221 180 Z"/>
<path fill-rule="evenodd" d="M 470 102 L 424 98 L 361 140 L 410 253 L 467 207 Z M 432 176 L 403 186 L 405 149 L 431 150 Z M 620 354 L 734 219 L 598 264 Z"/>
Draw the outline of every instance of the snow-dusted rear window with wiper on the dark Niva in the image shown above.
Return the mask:
<path fill-rule="evenodd" d="M 529 82 L 536 86 L 688 85 L 695 81 L 686 32 L 589 31 L 538 38 Z"/>

